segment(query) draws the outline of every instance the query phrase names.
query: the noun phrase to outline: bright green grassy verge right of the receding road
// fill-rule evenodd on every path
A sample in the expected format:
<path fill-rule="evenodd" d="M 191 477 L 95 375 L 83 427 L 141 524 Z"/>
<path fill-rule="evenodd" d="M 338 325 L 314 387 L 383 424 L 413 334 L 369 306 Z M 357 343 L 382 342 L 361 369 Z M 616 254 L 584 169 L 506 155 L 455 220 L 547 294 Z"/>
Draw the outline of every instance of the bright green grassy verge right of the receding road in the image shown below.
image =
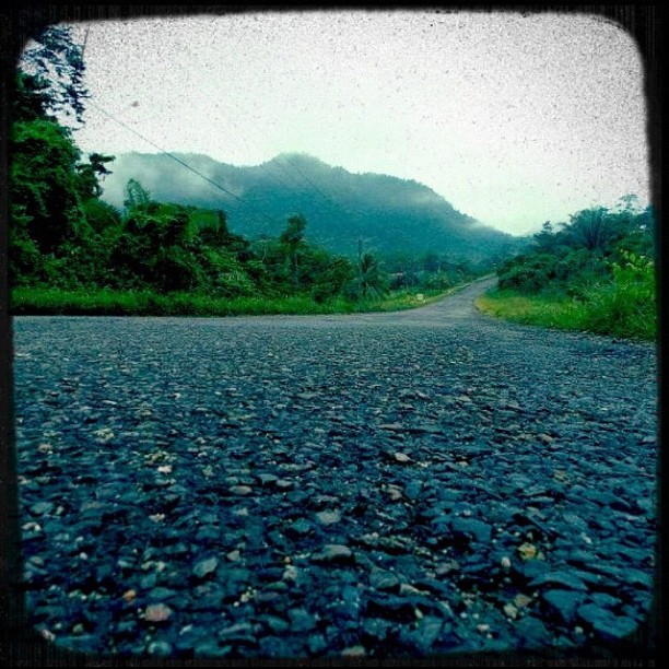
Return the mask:
<path fill-rule="evenodd" d="M 654 341 L 655 300 L 645 297 L 613 284 L 594 287 L 585 300 L 493 290 L 476 305 L 485 314 L 515 322 Z"/>

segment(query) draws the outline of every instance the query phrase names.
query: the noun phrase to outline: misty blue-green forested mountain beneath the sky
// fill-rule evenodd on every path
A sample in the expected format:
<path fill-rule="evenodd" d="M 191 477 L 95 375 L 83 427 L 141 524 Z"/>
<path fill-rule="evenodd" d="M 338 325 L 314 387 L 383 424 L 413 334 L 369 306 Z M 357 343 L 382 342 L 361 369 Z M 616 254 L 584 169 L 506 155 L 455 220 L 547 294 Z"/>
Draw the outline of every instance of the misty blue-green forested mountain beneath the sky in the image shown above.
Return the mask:
<path fill-rule="evenodd" d="M 117 156 L 103 198 L 122 207 L 126 184 L 134 178 L 159 201 L 222 209 L 231 232 L 247 237 L 278 236 L 301 213 L 309 240 L 345 255 L 356 253 L 359 239 L 380 254 L 434 251 L 474 261 L 518 246 L 516 237 L 482 225 L 413 180 L 352 174 L 306 154 L 281 154 L 250 167 L 173 155 L 177 160 Z"/>

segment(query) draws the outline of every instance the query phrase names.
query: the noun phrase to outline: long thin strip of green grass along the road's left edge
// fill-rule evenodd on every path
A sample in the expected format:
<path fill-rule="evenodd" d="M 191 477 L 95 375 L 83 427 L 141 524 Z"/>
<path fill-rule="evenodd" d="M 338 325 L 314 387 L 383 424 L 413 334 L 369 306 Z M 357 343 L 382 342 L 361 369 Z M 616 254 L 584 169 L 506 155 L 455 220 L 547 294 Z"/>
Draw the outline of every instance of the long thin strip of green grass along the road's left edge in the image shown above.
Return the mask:
<path fill-rule="evenodd" d="M 424 294 L 423 298 L 415 293 L 401 292 L 360 302 L 338 296 L 317 303 L 308 295 L 222 298 L 197 293 L 161 295 L 150 291 L 16 287 L 11 294 L 10 313 L 14 316 L 240 316 L 394 312 L 430 304 L 454 290 Z"/>

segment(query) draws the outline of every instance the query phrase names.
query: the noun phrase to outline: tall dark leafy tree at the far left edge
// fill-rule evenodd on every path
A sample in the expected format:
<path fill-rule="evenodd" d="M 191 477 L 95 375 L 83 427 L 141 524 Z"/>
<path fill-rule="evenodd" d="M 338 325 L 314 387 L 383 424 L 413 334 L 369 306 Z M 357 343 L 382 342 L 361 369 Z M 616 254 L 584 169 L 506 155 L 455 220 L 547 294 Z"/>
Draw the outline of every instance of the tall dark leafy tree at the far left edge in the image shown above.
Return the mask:
<path fill-rule="evenodd" d="M 98 193 L 96 177 L 107 156 L 78 165 L 71 130 L 57 120 L 81 121 L 89 96 L 83 73 L 82 49 L 66 26 L 43 28 L 19 64 L 9 141 L 10 267 L 22 274 L 13 277 L 16 283 L 50 281 L 47 268 L 79 274 L 80 251 L 92 242 L 82 201 Z"/>

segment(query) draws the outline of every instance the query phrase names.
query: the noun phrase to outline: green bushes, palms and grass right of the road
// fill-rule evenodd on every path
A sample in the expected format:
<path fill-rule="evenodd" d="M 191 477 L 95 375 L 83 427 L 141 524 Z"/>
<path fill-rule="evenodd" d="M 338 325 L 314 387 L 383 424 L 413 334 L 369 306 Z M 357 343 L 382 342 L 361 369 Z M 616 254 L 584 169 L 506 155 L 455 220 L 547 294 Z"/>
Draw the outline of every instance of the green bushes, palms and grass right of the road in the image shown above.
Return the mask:
<path fill-rule="evenodd" d="M 543 224 L 531 248 L 497 269 L 477 306 L 517 322 L 657 339 L 655 222 L 634 196 Z"/>

